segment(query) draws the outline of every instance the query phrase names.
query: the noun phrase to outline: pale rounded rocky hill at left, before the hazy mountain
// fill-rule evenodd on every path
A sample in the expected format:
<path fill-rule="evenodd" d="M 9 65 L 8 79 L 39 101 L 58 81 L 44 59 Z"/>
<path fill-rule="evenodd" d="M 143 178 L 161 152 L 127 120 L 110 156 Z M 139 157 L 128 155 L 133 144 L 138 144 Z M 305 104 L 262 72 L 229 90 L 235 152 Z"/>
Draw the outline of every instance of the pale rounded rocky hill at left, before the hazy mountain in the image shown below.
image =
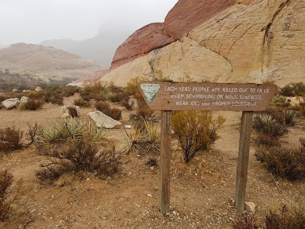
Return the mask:
<path fill-rule="evenodd" d="M 18 43 L 0 49 L 0 82 L 69 83 L 104 69 L 76 54 L 42 45 Z"/>

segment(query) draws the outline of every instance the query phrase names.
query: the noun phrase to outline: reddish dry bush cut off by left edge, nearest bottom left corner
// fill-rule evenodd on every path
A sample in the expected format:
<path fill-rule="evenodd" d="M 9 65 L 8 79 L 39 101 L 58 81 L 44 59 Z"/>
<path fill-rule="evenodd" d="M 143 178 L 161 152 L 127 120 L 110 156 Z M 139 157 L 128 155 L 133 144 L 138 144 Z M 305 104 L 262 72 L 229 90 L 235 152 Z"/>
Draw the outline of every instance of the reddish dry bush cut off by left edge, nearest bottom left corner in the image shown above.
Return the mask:
<path fill-rule="evenodd" d="M 13 187 L 14 176 L 7 169 L 0 170 L 0 220 L 9 213 L 11 205 L 17 199 L 23 184 L 18 180 Z"/>

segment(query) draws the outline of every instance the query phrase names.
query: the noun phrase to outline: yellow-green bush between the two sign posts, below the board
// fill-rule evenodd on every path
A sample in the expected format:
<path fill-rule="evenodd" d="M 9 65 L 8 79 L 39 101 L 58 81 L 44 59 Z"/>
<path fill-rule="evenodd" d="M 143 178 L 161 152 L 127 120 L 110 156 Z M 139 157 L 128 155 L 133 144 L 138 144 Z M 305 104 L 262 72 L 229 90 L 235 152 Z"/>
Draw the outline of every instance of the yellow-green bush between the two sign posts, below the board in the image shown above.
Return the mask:
<path fill-rule="evenodd" d="M 225 118 L 213 119 L 211 112 L 183 111 L 172 115 L 173 130 L 183 150 L 184 162 L 188 163 L 199 150 L 208 149 L 218 138 L 216 131 Z"/>

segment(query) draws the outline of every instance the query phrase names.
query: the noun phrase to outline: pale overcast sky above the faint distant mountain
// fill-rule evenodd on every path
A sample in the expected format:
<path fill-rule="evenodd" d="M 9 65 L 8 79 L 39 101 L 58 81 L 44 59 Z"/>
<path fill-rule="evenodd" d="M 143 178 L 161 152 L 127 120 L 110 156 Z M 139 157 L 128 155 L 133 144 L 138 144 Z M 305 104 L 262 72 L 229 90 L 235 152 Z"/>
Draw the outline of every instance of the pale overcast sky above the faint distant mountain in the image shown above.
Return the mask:
<path fill-rule="evenodd" d="M 0 0 L 0 45 L 84 40 L 163 22 L 178 0 Z"/>

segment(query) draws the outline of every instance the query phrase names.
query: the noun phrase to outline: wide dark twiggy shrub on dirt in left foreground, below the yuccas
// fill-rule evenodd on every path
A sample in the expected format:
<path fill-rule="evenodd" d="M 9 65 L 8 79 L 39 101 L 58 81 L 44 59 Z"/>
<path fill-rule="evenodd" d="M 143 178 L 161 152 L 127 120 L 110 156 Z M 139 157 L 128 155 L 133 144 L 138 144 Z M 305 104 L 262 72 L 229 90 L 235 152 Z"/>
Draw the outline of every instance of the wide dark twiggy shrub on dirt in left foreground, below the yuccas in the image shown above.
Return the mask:
<path fill-rule="evenodd" d="M 97 146 L 88 140 L 80 139 L 70 142 L 61 149 L 45 149 L 38 152 L 47 156 L 45 163 L 40 164 L 40 169 L 35 175 L 38 179 L 53 182 L 62 174 L 68 172 L 90 172 L 98 175 L 113 175 L 121 171 L 122 154 L 112 149 L 99 152 Z"/>

